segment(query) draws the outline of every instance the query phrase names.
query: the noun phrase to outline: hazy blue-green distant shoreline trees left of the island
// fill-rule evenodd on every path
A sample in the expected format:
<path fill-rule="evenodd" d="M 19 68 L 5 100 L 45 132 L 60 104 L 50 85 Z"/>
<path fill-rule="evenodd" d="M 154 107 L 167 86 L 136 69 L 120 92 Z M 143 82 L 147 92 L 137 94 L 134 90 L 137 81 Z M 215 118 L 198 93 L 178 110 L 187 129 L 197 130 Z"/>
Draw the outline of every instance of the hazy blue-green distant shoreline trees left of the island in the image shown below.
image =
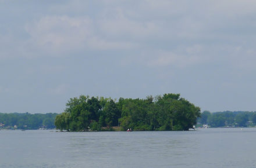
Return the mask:
<path fill-rule="evenodd" d="M 54 121 L 56 113 L 47 114 L 29 114 L 26 113 L 0 113 L 0 124 L 3 128 L 13 128 L 15 125 L 17 129 L 38 129 L 44 127 L 45 129 L 54 129 Z M 24 127 L 25 126 L 25 127 Z"/>

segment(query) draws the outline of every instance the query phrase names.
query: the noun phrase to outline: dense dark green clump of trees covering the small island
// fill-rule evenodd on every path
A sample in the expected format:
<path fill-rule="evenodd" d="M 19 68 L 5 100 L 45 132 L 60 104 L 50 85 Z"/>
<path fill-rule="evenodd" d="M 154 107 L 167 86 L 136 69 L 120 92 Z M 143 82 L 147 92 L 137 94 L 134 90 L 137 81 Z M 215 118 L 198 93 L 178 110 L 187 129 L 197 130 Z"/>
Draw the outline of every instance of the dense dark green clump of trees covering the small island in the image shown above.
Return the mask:
<path fill-rule="evenodd" d="M 56 116 L 59 130 L 189 130 L 200 117 L 200 108 L 180 94 L 163 94 L 147 98 L 90 97 L 70 98 L 66 109 Z"/>

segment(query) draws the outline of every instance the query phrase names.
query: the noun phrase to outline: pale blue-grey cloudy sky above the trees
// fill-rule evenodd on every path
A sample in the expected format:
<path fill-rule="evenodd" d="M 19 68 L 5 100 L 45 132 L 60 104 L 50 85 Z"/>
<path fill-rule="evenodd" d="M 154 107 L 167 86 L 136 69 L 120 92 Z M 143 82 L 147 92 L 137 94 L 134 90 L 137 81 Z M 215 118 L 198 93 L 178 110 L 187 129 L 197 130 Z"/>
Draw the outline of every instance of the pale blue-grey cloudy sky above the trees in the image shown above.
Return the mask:
<path fill-rule="evenodd" d="M 256 1 L 0 0 L 0 112 L 180 93 L 256 111 Z"/>

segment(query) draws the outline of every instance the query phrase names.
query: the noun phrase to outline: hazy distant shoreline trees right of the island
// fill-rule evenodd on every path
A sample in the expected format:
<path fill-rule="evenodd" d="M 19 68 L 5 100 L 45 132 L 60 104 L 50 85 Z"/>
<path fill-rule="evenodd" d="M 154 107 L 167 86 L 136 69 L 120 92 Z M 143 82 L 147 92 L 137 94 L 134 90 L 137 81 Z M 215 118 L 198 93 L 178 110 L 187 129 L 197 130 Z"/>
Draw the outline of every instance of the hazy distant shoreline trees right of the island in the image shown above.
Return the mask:
<path fill-rule="evenodd" d="M 256 112 L 248 111 L 204 111 L 198 118 L 201 125 L 208 124 L 211 127 L 248 127 L 256 125 Z"/>

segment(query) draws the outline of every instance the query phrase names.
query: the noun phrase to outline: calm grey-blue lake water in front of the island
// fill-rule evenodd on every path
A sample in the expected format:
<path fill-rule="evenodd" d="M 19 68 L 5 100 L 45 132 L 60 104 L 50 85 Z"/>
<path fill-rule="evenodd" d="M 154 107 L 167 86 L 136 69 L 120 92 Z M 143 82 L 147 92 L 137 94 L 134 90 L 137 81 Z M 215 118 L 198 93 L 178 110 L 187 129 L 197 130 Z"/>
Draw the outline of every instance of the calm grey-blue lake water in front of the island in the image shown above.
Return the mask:
<path fill-rule="evenodd" d="M 0 130 L 0 167 L 256 167 L 256 128 Z"/>

